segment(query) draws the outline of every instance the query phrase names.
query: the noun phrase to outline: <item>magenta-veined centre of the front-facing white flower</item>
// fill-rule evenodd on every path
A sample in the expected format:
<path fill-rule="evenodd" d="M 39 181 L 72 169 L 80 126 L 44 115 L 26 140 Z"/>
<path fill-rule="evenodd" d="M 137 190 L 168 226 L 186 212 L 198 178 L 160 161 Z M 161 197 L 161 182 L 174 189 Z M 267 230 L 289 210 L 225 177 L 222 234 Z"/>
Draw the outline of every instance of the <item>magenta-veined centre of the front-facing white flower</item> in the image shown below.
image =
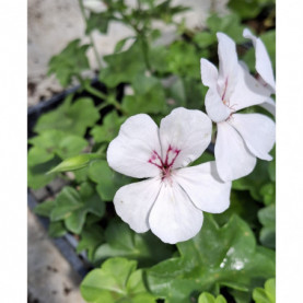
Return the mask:
<path fill-rule="evenodd" d="M 162 159 L 155 150 L 152 151 L 151 158 L 149 159 L 148 162 L 161 170 L 162 180 L 164 178 L 171 177 L 172 167 L 179 152 L 180 152 L 179 149 L 173 148 L 171 144 L 166 150 L 166 154 L 164 159 Z"/>

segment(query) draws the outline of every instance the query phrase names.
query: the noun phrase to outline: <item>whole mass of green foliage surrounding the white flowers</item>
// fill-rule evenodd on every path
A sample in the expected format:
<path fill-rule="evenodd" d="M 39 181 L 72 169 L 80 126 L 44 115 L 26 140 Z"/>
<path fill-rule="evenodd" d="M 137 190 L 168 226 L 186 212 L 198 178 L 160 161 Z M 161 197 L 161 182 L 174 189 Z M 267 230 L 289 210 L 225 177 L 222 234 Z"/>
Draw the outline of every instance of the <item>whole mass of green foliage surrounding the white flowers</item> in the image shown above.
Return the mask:
<path fill-rule="evenodd" d="M 98 80 L 106 90 L 83 78 L 90 69 L 86 51 L 93 45 L 71 42 L 50 60 L 49 74 L 65 88 L 77 79 L 83 96 L 69 95 L 43 115 L 34 128 L 37 136 L 28 140 L 28 186 L 38 189 L 57 177 L 68 183 L 35 212 L 49 218 L 51 236 L 70 233 L 79 238 L 77 252 L 85 252 L 95 266 L 81 284 L 83 298 L 95 303 L 275 302 L 275 161 L 259 161 L 250 175 L 233 182 L 231 207 L 206 215 L 199 234 L 177 245 L 163 244 L 150 232 L 137 234 L 117 218 L 114 195 L 131 179 L 106 162 L 108 143 L 127 117 L 147 113 L 159 121 L 178 106 L 203 109 L 207 89 L 199 60 L 217 60 L 217 32 L 226 33 L 244 49 L 242 59 L 254 70 L 254 53 L 246 44 L 243 47 L 242 32 L 267 13 L 261 30 L 256 30 L 275 62 L 275 31 L 268 21 L 275 18 L 275 1 L 231 0 L 232 12 L 211 14 L 203 31 L 176 23 L 174 15 L 186 8 L 173 7 L 171 0 L 138 0 L 133 9 L 125 1 L 103 2 L 106 11 L 85 15 L 86 35 L 106 34 L 112 21 L 133 30 L 133 36 L 118 42 L 103 58 L 106 66 Z M 168 46 L 154 44 L 161 33 L 153 21 L 174 24 L 179 36 Z M 124 95 L 118 98 L 121 85 Z M 206 153 L 196 163 L 212 158 Z"/>

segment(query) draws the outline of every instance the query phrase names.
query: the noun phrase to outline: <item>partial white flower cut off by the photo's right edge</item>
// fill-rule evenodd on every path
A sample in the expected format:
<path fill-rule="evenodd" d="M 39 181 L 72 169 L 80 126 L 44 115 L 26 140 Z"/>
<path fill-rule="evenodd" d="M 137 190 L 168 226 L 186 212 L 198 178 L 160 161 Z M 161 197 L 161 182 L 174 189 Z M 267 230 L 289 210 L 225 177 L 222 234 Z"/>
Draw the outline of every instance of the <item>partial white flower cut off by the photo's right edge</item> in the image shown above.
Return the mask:
<path fill-rule="evenodd" d="M 266 47 L 260 38 L 257 38 L 252 34 L 252 32 L 247 28 L 243 31 L 243 36 L 253 42 L 256 51 L 256 70 L 258 72 L 258 81 L 261 83 L 269 92 L 269 94 L 276 93 L 276 81 L 273 75 L 273 69 L 271 66 L 271 61 L 269 55 L 266 50 Z M 268 97 L 261 106 L 271 113 L 273 116 L 276 115 L 276 103 L 271 97 Z"/>

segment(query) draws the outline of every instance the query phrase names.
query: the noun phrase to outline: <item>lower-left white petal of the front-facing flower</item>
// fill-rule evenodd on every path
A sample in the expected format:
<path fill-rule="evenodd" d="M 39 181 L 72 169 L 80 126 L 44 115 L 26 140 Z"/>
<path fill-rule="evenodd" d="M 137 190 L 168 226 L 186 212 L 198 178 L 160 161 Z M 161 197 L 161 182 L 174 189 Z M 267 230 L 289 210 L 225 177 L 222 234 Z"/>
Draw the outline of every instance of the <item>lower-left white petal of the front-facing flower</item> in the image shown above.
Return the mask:
<path fill-rule="evenodd" d="M 161 179 L 150 178 L 121 187 L 114 197 L 117 214 L 137 233 L 150 229 L 150 210 L 159 195 Z"/>

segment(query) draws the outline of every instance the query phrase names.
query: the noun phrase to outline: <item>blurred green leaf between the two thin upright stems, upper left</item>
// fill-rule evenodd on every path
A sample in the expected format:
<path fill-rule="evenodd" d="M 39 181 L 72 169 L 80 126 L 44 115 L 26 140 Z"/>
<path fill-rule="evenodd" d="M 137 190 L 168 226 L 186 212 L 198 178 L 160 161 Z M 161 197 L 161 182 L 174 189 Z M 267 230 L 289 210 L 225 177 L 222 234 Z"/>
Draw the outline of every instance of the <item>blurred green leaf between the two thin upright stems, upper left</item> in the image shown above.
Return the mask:
<path fill-rule="evenodd" d="M 104 57 L 108 67 L 100 72 L 100 81 L 108 88 L 115 88 L 119 83 L 129 83 L 138 74 L 145 70 L 142 50 L 135 43 L 128 50 Z"/>

